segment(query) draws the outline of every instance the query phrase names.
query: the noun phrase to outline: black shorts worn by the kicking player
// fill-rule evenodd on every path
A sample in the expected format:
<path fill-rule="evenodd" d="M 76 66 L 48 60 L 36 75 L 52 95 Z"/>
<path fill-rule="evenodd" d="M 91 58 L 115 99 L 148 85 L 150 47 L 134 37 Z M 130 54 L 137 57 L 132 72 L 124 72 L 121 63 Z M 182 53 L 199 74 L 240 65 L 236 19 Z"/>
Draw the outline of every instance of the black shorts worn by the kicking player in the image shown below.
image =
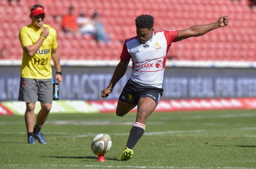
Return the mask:
<path fill-rule="evenodd" d="M 159 99 L 163 94 L 163 89 L 151 87 L 151 86 L 142 86 L 136 82 L 129 79 L 120 94 L 119 100 L 127 102 L 132 105 L 137 105 L 138 100 L 143 97 L 150 97 L 158 105 Z"/>

